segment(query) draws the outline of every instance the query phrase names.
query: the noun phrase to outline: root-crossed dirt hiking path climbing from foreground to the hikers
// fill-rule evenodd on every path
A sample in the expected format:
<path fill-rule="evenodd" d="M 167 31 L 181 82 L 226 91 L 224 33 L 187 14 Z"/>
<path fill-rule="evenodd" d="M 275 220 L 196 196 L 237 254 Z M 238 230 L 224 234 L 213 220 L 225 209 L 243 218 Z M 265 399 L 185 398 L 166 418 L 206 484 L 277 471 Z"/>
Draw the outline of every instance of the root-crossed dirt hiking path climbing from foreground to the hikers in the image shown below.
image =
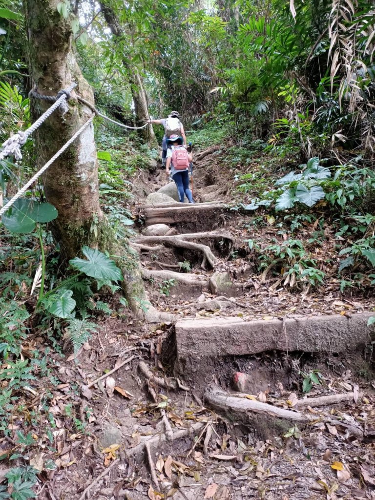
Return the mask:
<path fill-rule="evenodd" d="M 164 175 L 156 171 L 149 190 L 162 187 Z M 144 226 L 131 244 L 157 308 L 179 321 L 369 308 L 335 296 L 301 301 L 254 278 L 240 221 L 225 204 L 230 185 L 216 182 L 212 154 L 196 163 L 194 177 L 195 205 L 165 198 L 138 205 Z M 184 338 L 188 345 L 189 331 Z M 375 398 L 369 374 L 358 378 L 359 352 L 216 355 L 197 363 L 194 377 L 175 366 L 178 348 L 174 324 L 117 316 L 84 345 L 78 363 L 56 366 L 65 383 L 49 410 L 55 451 L 37 456 L 53 456 L 57 467 L 44 473 L 38 497 L 375 498 Z M 302 392 L 308 383 L 308 397 L 318 398 L 311 407 Z"/>

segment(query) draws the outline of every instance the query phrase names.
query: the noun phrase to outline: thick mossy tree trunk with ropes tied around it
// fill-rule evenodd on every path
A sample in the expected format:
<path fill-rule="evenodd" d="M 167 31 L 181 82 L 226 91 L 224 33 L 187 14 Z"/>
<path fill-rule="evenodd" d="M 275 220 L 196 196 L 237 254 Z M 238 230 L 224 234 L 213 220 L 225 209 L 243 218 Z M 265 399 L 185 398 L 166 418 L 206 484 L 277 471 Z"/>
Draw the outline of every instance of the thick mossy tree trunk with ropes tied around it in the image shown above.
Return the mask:
<path fill-rule="evenodd" d="M 30 76 L 37 91 L 56 95 L 72 81 L 74 91 L 93 103 L 93 94 L 74 59 L 69 19 L 57 12 L 57 0 L 24 0 L 28 36 Z M 40 168 L 91 116 L 92 111 L 78 104 L 72 92 L 69 110 L 61 116 L 56 110 L 35 132 L 36 164 Z M 31 99 L 31 114 L 37 118 L 49 104 Z M 47 201 L 58 216 L 51 224 L 65 262 L 87 244 L 118 255 L 123 289 L 130 307 L 149 320 L 161 314 L 148 305 L 136 253 L 120 245 L 99 207 L 97 156 L 93 126 L 88 128 L 48 168 L 43 177 Z M 92 230 L 93 225 L 97 231 Z M 171 315 L 163 317 L 171 320 Z"/>

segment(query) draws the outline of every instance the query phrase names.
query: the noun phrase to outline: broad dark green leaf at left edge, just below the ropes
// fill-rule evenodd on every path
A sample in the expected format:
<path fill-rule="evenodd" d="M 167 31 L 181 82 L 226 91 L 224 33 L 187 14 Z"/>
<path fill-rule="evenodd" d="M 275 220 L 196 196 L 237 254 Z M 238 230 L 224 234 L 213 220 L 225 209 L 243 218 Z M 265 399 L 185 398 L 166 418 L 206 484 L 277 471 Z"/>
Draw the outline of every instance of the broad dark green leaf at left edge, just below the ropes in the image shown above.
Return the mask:
<path fill-rule="evenodd" d="M 9 231 L 27 233 L 35 229 L 36 222 L 50 222 L 56 217 L 57 210 L 50 203 L 18 198 L 1 220 Z"/>

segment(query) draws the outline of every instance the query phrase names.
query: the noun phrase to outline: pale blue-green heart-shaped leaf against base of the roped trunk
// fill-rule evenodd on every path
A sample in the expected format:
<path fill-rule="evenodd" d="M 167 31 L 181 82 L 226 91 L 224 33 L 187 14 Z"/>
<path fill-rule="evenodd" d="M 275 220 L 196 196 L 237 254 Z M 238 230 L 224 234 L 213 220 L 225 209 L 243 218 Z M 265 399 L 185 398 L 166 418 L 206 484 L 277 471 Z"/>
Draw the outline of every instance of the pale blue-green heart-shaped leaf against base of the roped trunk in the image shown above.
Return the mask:
<path fill-rule="evenodd" d="M 107 278 L 112 281 L 122 281 L 121 270 L 104 253 L 88 246 L 83 246 L 82 253 L 87 260 L 75 257 L 69 261 L 70 265 L 96 279 Z"/>

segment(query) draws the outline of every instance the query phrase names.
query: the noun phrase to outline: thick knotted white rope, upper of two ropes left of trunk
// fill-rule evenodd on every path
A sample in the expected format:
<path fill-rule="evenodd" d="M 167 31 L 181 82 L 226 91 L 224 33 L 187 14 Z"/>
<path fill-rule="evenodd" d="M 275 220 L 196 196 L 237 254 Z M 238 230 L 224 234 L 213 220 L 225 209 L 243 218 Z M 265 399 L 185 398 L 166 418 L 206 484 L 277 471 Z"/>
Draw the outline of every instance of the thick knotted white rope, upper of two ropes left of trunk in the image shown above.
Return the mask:
<path fill-rule="evenodd" d="M 34 132 L 55 109 L 60 107 L 62 103 L 65 103 L 65 100 L 69 97 L 70 91 L 75 87 L 75 85 L 76 83 L 72 83 L 66 90 L 60 90 L 59 93 L 61 95 L 56 99 L 54 104 L 48 107 L 48 109 L 41 116 L 39 116 L 39 118 L 34 121 L 30 127 L 23 132 L 18 130 L 17 133 L 6 139 L 2 144 L 3 150 L 0 152 L 0 160 L 6 158 L 6 156 L 14 156 L 16 160 L 22 159 L 21 146 L 26 142 L 27 137 L 31 135 L 32 132 Z"/>

